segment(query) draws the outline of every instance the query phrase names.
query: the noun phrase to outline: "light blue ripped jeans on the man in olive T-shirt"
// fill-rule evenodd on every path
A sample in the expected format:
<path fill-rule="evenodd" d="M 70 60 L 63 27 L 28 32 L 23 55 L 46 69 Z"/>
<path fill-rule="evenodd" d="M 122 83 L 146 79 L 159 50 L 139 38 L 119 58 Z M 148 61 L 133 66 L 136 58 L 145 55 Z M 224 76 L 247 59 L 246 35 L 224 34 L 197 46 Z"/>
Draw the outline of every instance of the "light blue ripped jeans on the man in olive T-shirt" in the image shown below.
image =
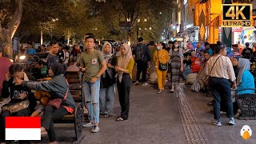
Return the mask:
<path fill-rule="evenodd" d="M 100 80 L 94 83 L 83 82 L 83 97 L 86 101 L 86 106 L 89 112 L 90 120 L 94 123 L 99 122 L 99 89 Z"/>

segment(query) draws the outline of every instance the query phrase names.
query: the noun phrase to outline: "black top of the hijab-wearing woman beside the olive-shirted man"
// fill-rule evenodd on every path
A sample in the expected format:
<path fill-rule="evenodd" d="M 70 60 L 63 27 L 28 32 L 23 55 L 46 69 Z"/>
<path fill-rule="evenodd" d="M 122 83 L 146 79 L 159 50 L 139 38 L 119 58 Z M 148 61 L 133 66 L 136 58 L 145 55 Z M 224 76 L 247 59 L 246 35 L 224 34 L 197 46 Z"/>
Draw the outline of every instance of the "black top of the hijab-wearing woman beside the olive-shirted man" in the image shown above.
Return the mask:
<path fill-rule="evenodd" d="M 110 58 L 109 62 L 112 66 L 116 66 L 117 63 L 117 57 L 113 57 Z M 114 68 L 107 68 L 107 70 L 105 71 L 105 74 L 102 74 L 101 77 L 101 88 L 108 88 L 112 85 L 114 85 L 114 83 L 116 82 L 116 78 L 115 78 L 115 70 Z M 103 75 L 105 75 L 105 78 L 103 78 Z"/>

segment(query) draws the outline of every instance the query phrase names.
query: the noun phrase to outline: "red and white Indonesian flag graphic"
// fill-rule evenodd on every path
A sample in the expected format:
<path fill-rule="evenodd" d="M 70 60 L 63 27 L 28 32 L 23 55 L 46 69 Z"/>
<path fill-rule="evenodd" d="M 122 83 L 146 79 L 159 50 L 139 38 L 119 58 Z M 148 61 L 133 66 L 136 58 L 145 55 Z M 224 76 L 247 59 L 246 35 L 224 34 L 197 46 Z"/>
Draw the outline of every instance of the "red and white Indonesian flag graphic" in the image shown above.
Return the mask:
<path fill-rule="evenodd" d="M 41 140 L 41 118 L 6 117 L 6 140 Z"/>

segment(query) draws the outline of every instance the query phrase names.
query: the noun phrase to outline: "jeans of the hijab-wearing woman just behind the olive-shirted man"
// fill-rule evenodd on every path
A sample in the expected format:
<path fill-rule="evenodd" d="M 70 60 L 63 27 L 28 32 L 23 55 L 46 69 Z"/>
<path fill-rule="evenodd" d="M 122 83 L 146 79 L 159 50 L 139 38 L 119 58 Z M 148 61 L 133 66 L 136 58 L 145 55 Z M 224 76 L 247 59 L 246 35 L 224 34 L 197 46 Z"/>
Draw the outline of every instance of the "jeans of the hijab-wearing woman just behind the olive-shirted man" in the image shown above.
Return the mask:
<path fill-rule="evenodd" d="M 99 106 L 101 114 L 113 114 L 115 85 L 99 90 Z"/>

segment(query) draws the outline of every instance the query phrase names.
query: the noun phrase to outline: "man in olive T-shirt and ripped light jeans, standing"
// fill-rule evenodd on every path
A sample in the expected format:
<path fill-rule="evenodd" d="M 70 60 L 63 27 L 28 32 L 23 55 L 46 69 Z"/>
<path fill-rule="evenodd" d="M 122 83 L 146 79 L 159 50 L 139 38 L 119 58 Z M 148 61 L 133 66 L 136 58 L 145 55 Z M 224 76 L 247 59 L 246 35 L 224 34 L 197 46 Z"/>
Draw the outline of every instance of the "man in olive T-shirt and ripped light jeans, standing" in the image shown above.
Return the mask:
<path fill-rule="evenodd" d="M 84 37 L 86 51 L 82 52 L 79 63 L 83 74 L 83 96 L 90 116 L 90 122 L 85 127 L 94 128 L 91 130 L 97 133 L 99 130 L 99 90 L 100 78 L 106 70 L 105 58 L 101 51 L 94 50 L 95 39 L 92 36 Z"/>

